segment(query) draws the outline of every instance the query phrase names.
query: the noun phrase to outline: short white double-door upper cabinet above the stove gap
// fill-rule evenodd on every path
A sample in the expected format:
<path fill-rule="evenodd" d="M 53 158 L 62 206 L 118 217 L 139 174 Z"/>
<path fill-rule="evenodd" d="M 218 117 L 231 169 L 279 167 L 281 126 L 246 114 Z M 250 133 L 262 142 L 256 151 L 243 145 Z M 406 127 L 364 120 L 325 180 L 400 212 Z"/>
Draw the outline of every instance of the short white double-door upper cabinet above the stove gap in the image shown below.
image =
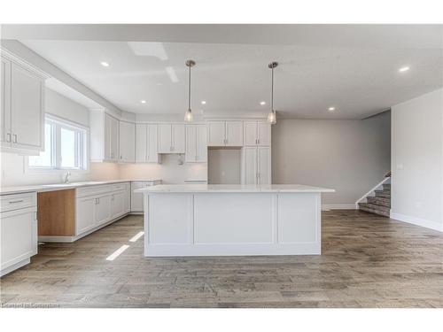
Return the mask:
<path fill-rule="evenodd" d="M 159 153 L 184 153 L 184 124 L 159 124 Z"/>

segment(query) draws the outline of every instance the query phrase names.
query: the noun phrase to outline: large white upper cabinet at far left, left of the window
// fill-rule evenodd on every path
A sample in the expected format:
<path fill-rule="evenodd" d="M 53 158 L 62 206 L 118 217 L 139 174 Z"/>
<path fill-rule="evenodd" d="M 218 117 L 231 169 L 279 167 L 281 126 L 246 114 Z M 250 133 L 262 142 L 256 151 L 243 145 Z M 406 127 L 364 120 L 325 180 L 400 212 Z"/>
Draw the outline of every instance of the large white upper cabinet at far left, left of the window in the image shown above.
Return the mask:
<path fill-rule="evenodd" d="M 2 151 L 38 155 L 44 150 L 44 80 L 17 58 L 1 57 Z"/>

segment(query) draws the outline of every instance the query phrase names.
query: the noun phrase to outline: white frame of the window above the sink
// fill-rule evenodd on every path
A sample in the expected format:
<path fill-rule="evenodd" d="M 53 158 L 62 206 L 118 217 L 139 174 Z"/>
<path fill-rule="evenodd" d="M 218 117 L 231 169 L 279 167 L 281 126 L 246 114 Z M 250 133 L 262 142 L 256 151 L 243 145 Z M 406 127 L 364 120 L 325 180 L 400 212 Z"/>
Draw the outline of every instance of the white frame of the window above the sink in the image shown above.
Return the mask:
<path fill-rule="evenodd" d="M 52 166 L 30 166 L 29 158 L 26 159 L 26 173 L 88 173 L 89 172 L 89 128 L 84 127 L 76 122 L 60 118 L 52 114 L 45 114 L 44 123 L 52 125 Z M 74 130 L 78 139 L 75 140 L 76 146 L 74 163 L 76 167 L 61 166 L 61 128 Z M 80 142 L 80 143 L 79 143 Z M 81 157 L 82 156 L 82 157 Z M 82 165 L 80 165 L 82 164 Z"/>

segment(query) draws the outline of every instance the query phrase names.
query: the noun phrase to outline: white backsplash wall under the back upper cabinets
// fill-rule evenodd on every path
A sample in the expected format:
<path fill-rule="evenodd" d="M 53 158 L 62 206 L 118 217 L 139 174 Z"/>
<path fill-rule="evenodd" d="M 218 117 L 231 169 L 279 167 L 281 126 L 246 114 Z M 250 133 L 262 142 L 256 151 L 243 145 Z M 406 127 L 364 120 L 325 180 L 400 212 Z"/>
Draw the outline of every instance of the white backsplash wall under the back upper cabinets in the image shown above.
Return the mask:
<path fill-rule="evenodd" d="M 185 180 L 207 180 L 206 163 L 178 164 L 184 155 L 161 155 L 161 164 L 121 164 L 120 179 L 162 180 L 163 183 L 184 183 Z"/>

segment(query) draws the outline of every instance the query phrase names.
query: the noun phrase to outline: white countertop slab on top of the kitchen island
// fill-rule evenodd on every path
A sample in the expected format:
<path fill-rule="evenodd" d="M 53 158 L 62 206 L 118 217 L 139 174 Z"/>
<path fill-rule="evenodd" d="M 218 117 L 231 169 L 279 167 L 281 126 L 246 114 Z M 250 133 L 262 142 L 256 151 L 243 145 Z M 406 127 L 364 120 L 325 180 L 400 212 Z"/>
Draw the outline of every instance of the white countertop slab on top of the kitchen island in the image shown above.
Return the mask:
<path fill-rule="evenodd" d="M 134 192 L 335 192 L 335 189 L 312 187 L 303 184 L 160 184 L 158 186 L 136 189 Z"/>

